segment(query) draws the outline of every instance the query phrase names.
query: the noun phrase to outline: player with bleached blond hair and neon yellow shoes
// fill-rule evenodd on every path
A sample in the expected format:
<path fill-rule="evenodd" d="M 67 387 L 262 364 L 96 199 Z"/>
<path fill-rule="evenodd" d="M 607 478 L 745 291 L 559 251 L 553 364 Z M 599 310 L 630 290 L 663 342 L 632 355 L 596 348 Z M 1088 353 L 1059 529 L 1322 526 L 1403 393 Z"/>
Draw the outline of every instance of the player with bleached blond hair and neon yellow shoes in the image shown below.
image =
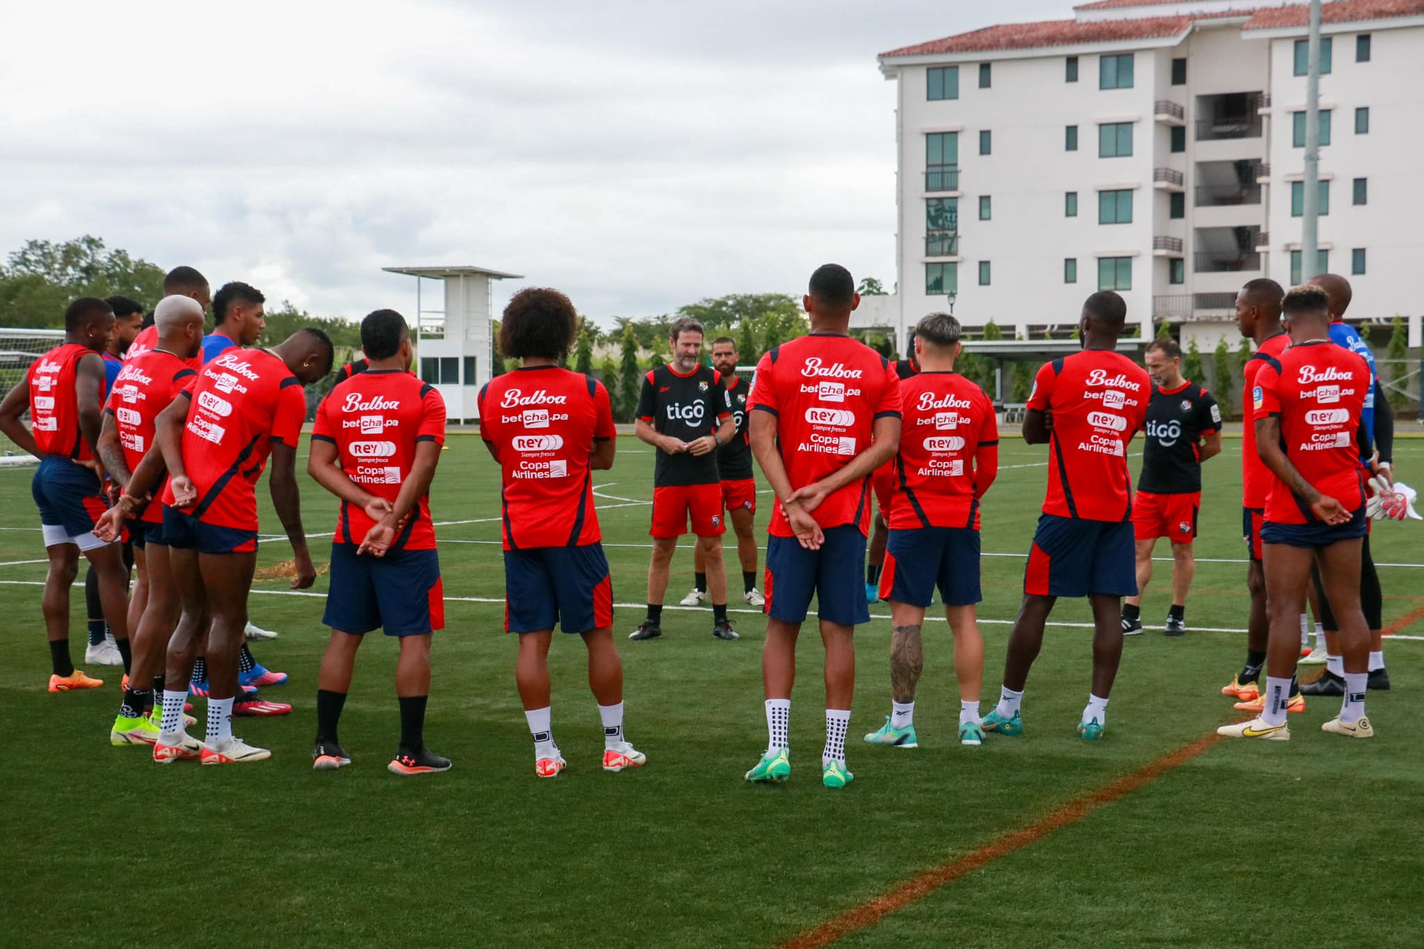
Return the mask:
<path fill-rule="evenodd" d="M 135 468 L 154 445 L 154 423 L 167 408 L 194 370 L 188 360 L 202 346 L 202 306 L 188 296 L 167 296 L 154 310 L 158 339 L 154 349 L 124 364 L 104 408 L 104 427 L 98 437 L 100 458 L 120 488 L 127 488 Z M 108 516 L 108 534 L 120 529 L 121 504 Z M 178 623 L 178 590 L 168 565 L 168 541 L 164 538 L 164 509 L 158 501 L 135 508 L 127 521 L 140 563 L 140 580 L 148 592 L 144 605 L 130 610 L 132 630 L 132 667 L 124 697 L 110 728 L 110 744 L 148 744 L 158 741 L 162 710 L 150 717 L 150 704 L 158 707 L 165 687 L 164 654 L 168 637 Z M 147 579 L 145 579 L 147 578 Z M 140 595 L 135 589 L 134 600 Z M 181 709 L 179 709 L 181 713 Z"/>

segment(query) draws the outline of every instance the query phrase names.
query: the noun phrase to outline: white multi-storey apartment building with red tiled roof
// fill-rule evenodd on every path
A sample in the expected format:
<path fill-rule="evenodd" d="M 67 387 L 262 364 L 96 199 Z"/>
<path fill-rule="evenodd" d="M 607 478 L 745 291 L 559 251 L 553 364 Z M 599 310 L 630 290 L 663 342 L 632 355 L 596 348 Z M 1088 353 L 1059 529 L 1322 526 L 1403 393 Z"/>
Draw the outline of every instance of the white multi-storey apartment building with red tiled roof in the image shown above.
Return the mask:
<path fill-rule="evenodd" d="M 1330 270 L 1349 316 L 1424 292 L 1424 0 L 1323 7 L 1319 267 L 1300 260 L 1303 0 L 1101 0 L 879 57 L 897 84 L 897 292 L 857 326 L 944 309 L 967 327 L 1062 336 L 1114 289 L 1128 319 L 1208 353 L 1236 290 Z"/>

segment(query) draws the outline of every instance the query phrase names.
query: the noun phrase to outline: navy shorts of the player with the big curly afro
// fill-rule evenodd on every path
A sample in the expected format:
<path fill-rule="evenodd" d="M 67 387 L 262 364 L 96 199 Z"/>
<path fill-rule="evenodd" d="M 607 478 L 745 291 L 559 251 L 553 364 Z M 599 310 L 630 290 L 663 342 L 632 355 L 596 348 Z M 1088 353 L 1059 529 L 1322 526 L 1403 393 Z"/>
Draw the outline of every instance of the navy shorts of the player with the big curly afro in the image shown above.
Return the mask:
<path fill-rule="evenodd" d="M 565 633 L 614 625 L 614 583 L 602 544 L 504 552 L 504 630 Z"/>

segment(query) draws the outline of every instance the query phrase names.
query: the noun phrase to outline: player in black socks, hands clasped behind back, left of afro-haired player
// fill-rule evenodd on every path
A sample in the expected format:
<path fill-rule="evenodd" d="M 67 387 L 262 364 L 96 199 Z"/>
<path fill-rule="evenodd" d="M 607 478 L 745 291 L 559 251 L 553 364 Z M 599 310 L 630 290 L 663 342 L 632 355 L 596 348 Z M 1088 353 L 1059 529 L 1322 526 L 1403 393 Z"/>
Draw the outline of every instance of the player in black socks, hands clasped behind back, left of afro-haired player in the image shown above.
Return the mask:
<path fill-rule="evenodd" d="M 424 743 L 430 637 L 444 629 L 444 589 L 430 519 L 430 482 L 444 444 L 444 400 L 406 371 L 410 330 L 394 310 L 360 324 L 366 371 L 332 388 L 316 410 L 306 471 L 340 498 L 332 544 L 326 616 L 332 637 L 316 691 L 313 768 L 350 764 L 336 726 L 350 690 L 356 650 L 383 629 L 400 640 L 396 696 L 400 746 L 393 774 L 449 771 Z"/>

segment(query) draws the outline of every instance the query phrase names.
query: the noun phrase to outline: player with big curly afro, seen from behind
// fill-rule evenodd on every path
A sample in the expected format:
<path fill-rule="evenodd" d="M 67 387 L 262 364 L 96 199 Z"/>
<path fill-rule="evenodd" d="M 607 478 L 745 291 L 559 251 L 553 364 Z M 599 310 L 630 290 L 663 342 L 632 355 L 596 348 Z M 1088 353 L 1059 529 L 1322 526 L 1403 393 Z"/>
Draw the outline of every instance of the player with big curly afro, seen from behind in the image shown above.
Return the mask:
<path fill-rule="evenodd" d="M 554 741 L 548 647 L 554 625 L 582 637 L 588 687 L 604 723 L 604 770 L 646 757 L 624 737 L 622 662 L 614 645 L 614 590 L 604 556 L 592 472 L 614 465 L 608 390 L 560 369 L 578 332 L 558 290 L 520 290 L 504 307 L 500 351 L 520 369 L 480 390 L 480 437 L 500 464 L 504 489 L 506 629 L 518 635 L 514 682 L 534 736 L 534 774 L 567 767 Z"/>

